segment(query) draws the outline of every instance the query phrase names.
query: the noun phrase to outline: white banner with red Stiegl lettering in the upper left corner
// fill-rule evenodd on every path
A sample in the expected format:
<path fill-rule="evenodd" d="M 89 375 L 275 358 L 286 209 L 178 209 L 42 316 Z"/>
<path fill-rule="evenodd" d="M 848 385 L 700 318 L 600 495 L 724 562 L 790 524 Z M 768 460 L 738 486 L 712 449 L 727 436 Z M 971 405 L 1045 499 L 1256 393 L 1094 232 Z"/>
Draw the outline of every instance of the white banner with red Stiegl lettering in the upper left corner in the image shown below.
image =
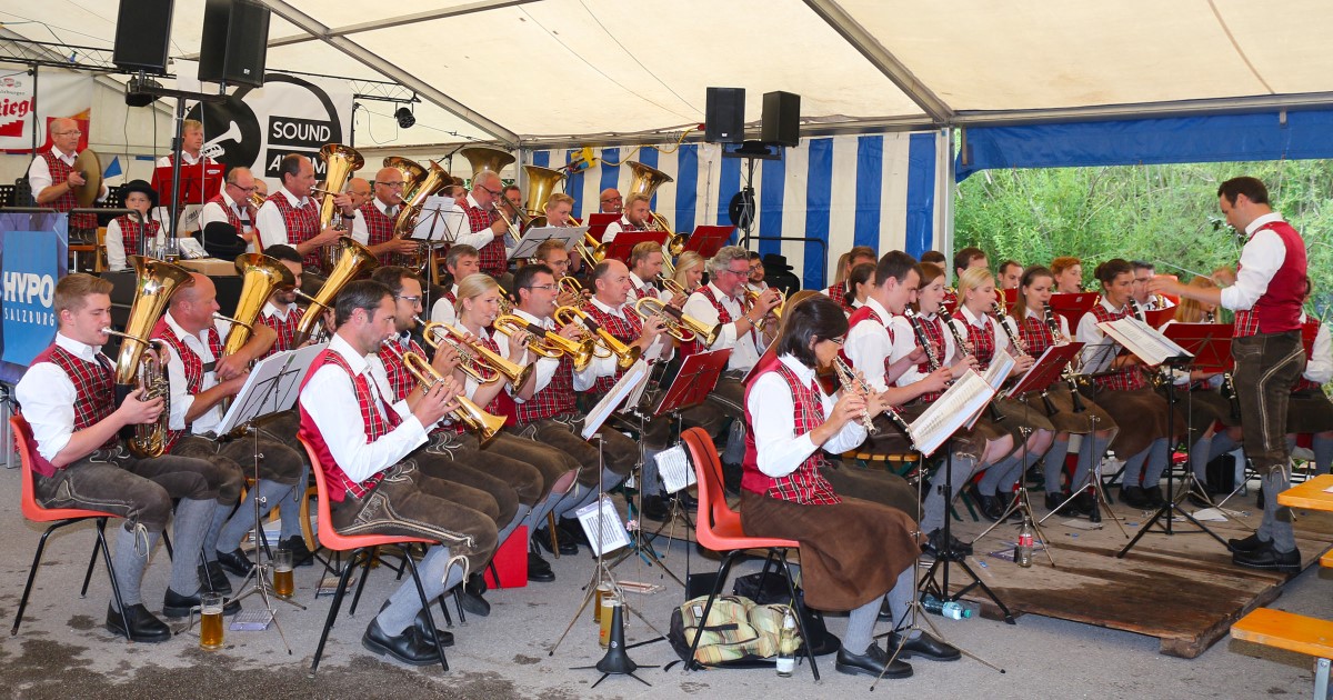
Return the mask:
<path fill-rule="evenodd" d="M 37 87 L 37 119 L 33 123 L 33 83 Z M 71 117 L 83 136 L 79 149 L 88 148 L 88 125 L 92 115 L 92 76 L 40 71 L 31 76 L 21 68 L 0 67 L 0 151 L 32 153 L 32 129 L 37 128 L 37 151 L 51 148 L 47 127 L 51 120 Z"/>

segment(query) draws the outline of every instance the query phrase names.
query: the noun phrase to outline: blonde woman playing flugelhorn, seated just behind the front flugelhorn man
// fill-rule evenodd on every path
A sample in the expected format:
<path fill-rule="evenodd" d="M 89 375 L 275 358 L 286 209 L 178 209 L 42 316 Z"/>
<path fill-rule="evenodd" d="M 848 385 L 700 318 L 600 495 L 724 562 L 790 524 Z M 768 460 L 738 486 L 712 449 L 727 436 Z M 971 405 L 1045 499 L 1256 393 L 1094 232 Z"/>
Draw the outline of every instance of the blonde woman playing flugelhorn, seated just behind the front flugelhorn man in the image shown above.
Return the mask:
<path fill-rule="evenodd" d="M 497 356 L 523 365 L 531 336 L 528 333 L 507 336 L 507 348 L 505 352 L 501 352 L 495 335 L 487 331 L 497 316 L 500 316 L 500 284 L 489 276 L 480 273 L 465 277 L 459 284 L 457 320 L 452 324 L 453 328 L 476 339 L 477 343 Z M 513 413 L 513 400 L 505 392 L 507 384 L 503 379 L 479 384 L 461 367 L 455 369 L 453 377 L 464 387 L 464 395 L 483 407 L 483 411 L 493 416 Z M 579 476 L 579 461 L 572 456 L 551 445 L 519 437 L 512 428 L 497 432 L 487 445 L 480 445 L 477 437 L 469 432 L 464 432 L 464 427 L 457 421 L 452 432 L 453 436 L 448 441 L 437 440 L 435 449 L 444 451 L 456 459 L 463 459 L 467 455 L 488 464 L 492 459 L 517 460 L 541 472 L 544 493 L 521 523 L 528 527 L 528 532 L 535 533 L 539 525 L 547 523 L 547 515 L 553 512 L 567 497 Z M 444 429 L 444 435 L 448 436 L 448 428 Z M 464 455 L 456 452 L 459 448 L 465 451 Z M 549 537 L 544 539 L 543 544 L 547 544 L 549 549 Z M 560 553 L 567 553 L 567 544 L 564 541 L 560 544 L 563 548 Z M 569 545 L 573 545 L 573 543 L 571 541 Z M 551 564 L 541 557 L 531 541 L 528 547 L 528 580 L 556 580 L 556 575 L 551 571 Z M 577 545 L 573 545 L 573 551 L 568 553 L 579 553 Z"/>

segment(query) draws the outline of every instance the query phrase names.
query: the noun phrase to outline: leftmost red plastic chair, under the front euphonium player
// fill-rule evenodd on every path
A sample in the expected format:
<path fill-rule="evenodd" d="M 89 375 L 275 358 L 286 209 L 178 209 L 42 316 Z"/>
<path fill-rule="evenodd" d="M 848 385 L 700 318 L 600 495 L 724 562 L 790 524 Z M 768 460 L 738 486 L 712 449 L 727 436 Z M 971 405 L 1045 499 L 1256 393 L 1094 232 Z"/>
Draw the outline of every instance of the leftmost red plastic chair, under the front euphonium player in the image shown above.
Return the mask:
<path fill-rule="evenodd" d="M 65 525 L 73 525 L 89 519 L 97 524 L 97 544 L 92 549 L 92 557 L 88 559 L 88 572 L 84 573 L 84 585 L 79 591 L 79 597 L 88 595 L 88 583 L 92 580 L 92 569 L 97 564 L 97 551 L 100 549 L 101 559 L 107 564 L 107 573 L 111 576 L 111 592 L 116 596 L 116 608 L 120 609 L 121 624 L 125 629 L 129 629 L 129 621 L 124 619 L 125 605 L 120 600 L 120 587 L 116 584 L 115 568 L 111 565 L 111 551 L 107 548 L 107 519 L 119 519 L 120 516 L 103 511 L 85 511 L 83 508 L 43 508 L 37 503 L 32 483 L 32 461 L 37 451 L 36 440 L 32 437 L 32 427 L 28 425 L 28 421 L 20 413 L 9 416 L 9 425 L 13 428 L 15 447 L 19 449 L 19 459 L 23 463 L 23 489 L 19 501 L 23 516 L 33 523 L 52 523 L 41 533 L 41 539 L 37 540 L 37 553 L 32 557 L 32 568 L 28 569 L 28 584 L 23 587 L 23 597 L 19 599 L 19 612 L 13 616 L 13 627 L 9 629 L 9 635 L 19 633 L 19 624 L 23 623 L 23 611 L 28 607 L 28 595 L 32 593 L 32 583 L 37 579 L 37 567 L 41 565 L 41 553 L 47 548 L 47 537 L 51 537 L 52 532 Z"/>

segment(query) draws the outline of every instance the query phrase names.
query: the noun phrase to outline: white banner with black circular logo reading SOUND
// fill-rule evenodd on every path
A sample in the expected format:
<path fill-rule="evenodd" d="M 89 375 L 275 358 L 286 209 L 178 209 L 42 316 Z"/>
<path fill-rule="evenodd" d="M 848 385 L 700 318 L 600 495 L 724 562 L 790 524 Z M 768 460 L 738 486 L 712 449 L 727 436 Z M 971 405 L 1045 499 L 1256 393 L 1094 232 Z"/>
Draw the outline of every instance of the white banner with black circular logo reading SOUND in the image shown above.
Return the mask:
<path fill-rule="evenodd" d="M 191 73 L 181 69 L 181 75 Z M 184 89 L 196 89 L 181 83 Z M 319 152 L 324 144 L 344 143 L 352 123 L 352 93 L 341 80 L 265 73 L 264 87 L 239 88 L 220 104 L 196 104 L 188 116 L 200 115 L 204 153 L 228 168 L 249 168 L 269 181 L 272 192 L 279 161 L 288 153 L 309 156 L 316 177 L 324 179 Z"/>

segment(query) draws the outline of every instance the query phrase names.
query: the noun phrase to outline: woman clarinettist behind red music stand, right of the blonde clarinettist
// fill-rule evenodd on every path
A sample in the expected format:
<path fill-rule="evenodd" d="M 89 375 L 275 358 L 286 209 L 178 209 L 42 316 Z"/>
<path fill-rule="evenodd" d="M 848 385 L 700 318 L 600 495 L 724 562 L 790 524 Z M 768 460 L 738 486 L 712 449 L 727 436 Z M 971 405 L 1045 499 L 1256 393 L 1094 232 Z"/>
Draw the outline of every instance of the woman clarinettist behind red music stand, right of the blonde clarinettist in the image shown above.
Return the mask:
<path fill-rule="evenodd" d="M 1020 337 L 1022 337 L 1028 353 L 1036 357 L 1040 357 L 1052 345 L 1065 345 L 1070 341 L 1069 323 L 1064 316 L 1049 311 L 1052 287 L 1054 284 L 1056 276 L 1049 269 L 1041 265 L 1028 268 L 1022 272 L 1022 279 L 1018 283 L 1018 296 L 1013 303 L 1013 317 L 1022 319 L 1018 321 Z M 1072 368 L 1066 369 L 1066 372 L 1072 372 Z M 1088 484 L 1089 472 L 1092 472 L 1094 465 L 1101 464 L 1101 457 L 1105 455 L 1106 447 L 1110 445 L 1110 440 L 1116 436 L 1116 421 L 1110 417 L 1110 413 L 1106 413 L 1092 399 L 1080 396 L 1078 405 L 1076 407 L 1073 391 L 1064 381 L 1057 381 L 1046 389 L 1046 399 L 1056 409 L 1054 413 L 1046 417 L 1054 425 L 1056 431 L 1058 431 L 1054 441 L 1050 444 L 1050 449 L 1046 451 L 1044 457 L 1046 509 L 1054 511 L 1060 504 L 1069 501 L 1061 513 L 1096 516 L 1100 520 L 1098 504 L 1092 493 L 1086 489 L 1080 491 L 1078 496 L 1072 501 L 1069 496 L 1072 495 L 1070 488 L 1073 485 Z M 1034 396 L 1028 397 L 1029 405 L 1037 405 L 1037 401 L 1038 399 Z M 1065 456 L 1069 453 L 1070 435 L 1080 435 L 1082 437 L 1078 445 L 1077 467 L 1074 467 L 1074 473 L 1069 479 L 1069 488 L 1064 488 L 1060 484 L 1060 475 L 1065 469 Z"/>

